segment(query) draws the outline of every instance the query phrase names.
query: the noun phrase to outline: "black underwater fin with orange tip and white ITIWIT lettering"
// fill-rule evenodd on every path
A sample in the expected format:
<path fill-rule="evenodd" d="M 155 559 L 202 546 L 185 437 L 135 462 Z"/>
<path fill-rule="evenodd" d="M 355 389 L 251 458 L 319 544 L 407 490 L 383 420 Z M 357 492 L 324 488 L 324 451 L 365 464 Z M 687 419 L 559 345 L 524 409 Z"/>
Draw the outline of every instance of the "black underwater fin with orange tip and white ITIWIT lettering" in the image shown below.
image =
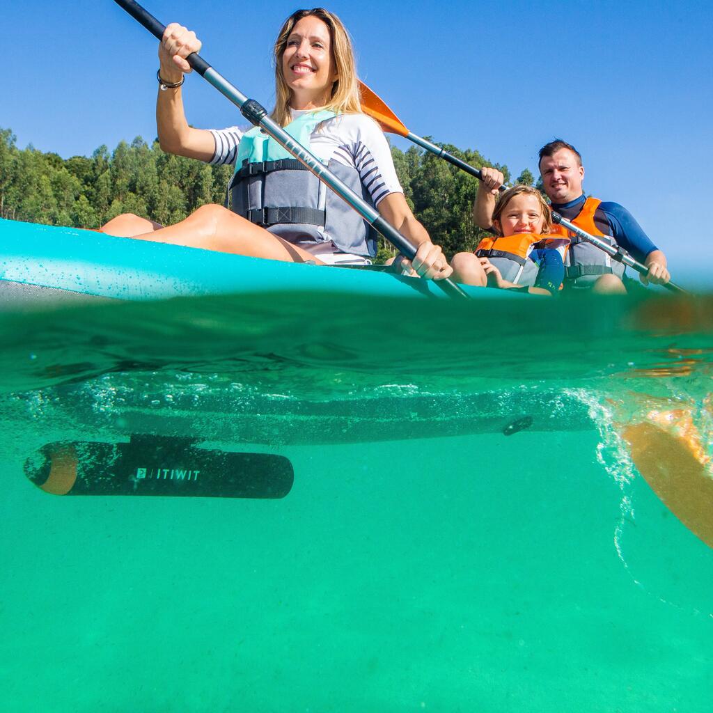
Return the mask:
<path fill-rule="evenodd" d="M 53 495 L 284 498 L 292 463 L 270 453 L 197 448 L 191 438 L 133 435 L 129 443 L 48 443 L 26 476 Z"/>

